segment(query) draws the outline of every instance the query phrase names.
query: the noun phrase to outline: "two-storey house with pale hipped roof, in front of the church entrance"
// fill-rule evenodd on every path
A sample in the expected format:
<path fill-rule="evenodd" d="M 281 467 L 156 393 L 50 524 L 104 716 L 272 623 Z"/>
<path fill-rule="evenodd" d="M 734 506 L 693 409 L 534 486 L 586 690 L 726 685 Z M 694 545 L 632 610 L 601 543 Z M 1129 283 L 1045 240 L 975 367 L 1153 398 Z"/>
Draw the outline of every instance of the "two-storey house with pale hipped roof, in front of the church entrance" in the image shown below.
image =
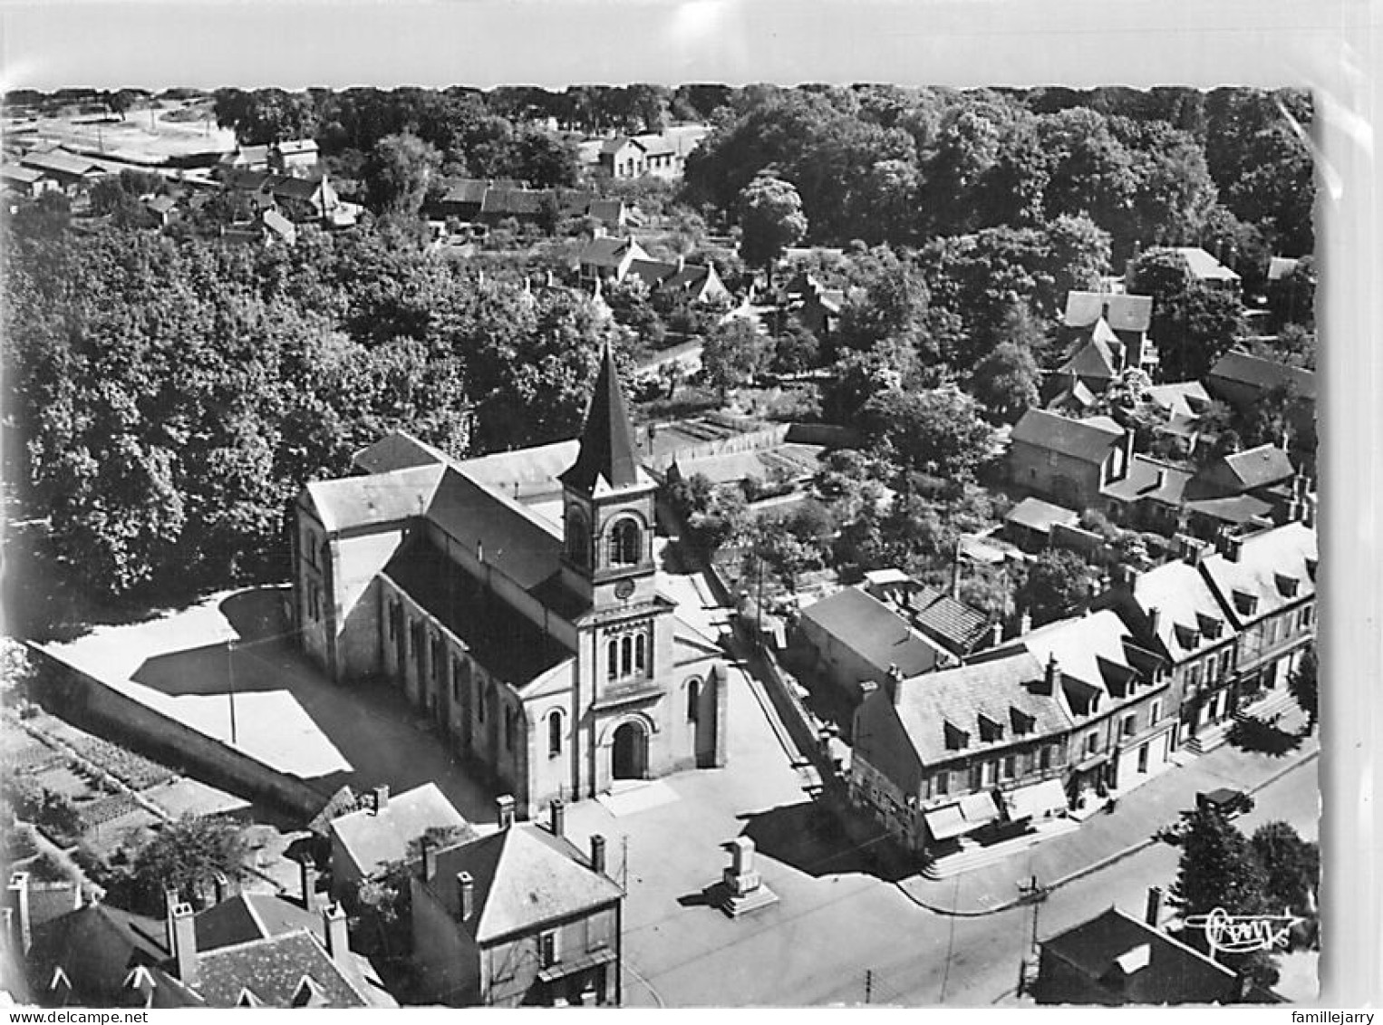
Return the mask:
<path fill-rule="evenodd" d="M 563 833 L 513 822 L 499 800 L 498 829 L 427 848 L 412 877 L 419 988 L 449 1006 L 618 1006 L 624 889 L 606 867 L 604 837 L 589 855 Z"/>

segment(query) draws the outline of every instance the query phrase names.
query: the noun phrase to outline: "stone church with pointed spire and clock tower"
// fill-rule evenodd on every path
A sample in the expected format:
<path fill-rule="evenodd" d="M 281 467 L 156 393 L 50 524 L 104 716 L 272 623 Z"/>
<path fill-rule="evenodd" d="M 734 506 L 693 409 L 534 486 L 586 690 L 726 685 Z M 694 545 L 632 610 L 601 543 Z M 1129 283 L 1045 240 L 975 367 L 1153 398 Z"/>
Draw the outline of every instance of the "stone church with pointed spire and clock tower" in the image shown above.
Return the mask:
<path fill-rule="evenodd" d="M 725 764 L 721 650 L 660 591 L 609 347 L 579 440 L 455 461 L 397 432 L 354 469 L 293 505 L 293 627 L 333 681 L 398 686 L 520 815 Z"/>

